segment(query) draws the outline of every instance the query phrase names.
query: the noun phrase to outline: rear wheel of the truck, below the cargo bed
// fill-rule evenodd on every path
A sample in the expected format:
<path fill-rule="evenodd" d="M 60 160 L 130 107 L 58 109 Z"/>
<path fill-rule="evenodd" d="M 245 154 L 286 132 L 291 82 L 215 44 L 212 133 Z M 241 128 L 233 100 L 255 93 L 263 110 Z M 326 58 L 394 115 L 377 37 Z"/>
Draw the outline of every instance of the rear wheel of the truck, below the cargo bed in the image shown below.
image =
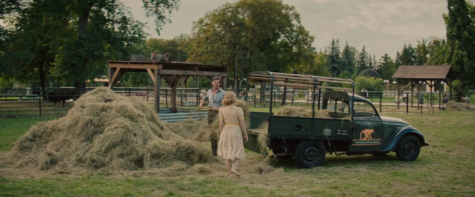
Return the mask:
<path fill-rule="evenodd" d="M 299 168 L 311 168 L 323 164 L 325 146 L 321 141 L 305 140 L 295 148 L 295 162 Z"/>

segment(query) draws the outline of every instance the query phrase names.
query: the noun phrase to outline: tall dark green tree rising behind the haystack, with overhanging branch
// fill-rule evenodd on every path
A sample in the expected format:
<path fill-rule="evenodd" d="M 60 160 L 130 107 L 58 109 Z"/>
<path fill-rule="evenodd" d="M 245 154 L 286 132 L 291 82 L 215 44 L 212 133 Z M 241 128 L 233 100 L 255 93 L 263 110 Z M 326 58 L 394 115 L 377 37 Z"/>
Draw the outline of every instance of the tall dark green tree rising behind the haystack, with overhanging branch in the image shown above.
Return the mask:
<path fill-rule="evenodd" d="M 156 17 L 156 30 L 169 22 L 166 12 L 177 8 L 178 0 L 142 0 L 146 16 Z M 57 73 L 72 78 L 76 88 L 85 88 L 85 79 L 104 74 L 105 60 L 127 60 L 127 52 L 141 43 L 144 24 L 132 19 L 117 0 L 71 0 L 68 11 L 71 24 L 69 39 L 57 55 Z M 71 34 L 76 31 L 76 34 Z"/>

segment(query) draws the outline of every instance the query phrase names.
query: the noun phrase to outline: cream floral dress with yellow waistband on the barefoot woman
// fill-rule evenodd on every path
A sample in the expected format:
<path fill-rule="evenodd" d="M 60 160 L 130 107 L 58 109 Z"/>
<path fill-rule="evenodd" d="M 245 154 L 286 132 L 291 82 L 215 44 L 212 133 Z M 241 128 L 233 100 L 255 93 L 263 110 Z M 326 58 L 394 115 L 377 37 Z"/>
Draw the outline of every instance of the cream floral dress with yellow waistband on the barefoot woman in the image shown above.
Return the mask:
<path fill-rule="evenodd" d="M 240 107 L 226 106 L 219 109 L 219 120 L 224 120 L 224 128 L 219 136 L 218 156 L 224 159 L 244 159 L 244 141 L 239 121 L 244 120 Z"/>

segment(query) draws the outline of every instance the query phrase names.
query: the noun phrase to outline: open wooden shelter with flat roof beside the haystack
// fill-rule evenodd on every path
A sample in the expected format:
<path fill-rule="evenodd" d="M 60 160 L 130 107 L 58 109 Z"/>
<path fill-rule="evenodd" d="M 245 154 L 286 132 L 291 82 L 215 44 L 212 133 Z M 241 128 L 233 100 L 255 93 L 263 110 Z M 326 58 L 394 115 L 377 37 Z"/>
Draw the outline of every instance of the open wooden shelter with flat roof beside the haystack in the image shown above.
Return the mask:
<path fill-rule="evenodd" d="M 126 72 L 146 72 L 152 78 L 155 94 L 155 111 L 160 109 L 160 81 L 165 79 L 171 87 L 171 112 L 176 113 L 176 87 L 180 79 L 190 76 L 221 77 L 221 88 L 226 90 L 229 66 L 200 63 L 150 60 L 150 61 L 107 61 L 109 64 L 109 87 L 113 88 Z"/>

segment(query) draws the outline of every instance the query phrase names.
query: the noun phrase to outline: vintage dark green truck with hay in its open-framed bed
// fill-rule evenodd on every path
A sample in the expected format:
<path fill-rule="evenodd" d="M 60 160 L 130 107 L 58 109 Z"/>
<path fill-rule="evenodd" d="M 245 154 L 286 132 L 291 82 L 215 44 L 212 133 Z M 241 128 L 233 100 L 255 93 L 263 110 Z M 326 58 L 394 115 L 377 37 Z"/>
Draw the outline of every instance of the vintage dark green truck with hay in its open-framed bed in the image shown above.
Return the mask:
<path fill-rule="evenodd" d="M 277 95 L 270 94 L 269 112 L 251 112 L 249 140 L 244 147 L 259 154 L 268 154 L 261 150 L 257 141 L 258 133 L 253 129 L 268 121 L 268 148 L 272 156 L 295 158 L 299 168 L 311 168 L 323 164 L 325 155 L 373 154 L 380 156 L 396 152 L 400 161 L 413 161 L 420 147 L 428 146 L 420 131 L 400 118 L 380 116 L 374 105 L 366 98 L 354 94 L 354 82 L 350 79 L 295 75 L 259 71 L 247 77 L 249 85 L 284 86 L 308 88 L 313 90 L 312 109 L 328 109 L 329 118 L 307 118 L 276 116 L 272 113 L 273 100 Z M 258 80 L 253 83 L 252 80 Z M 265 82 L 270 83 L 265 83 Z M 322 86 L 323 82 L 352 85 L 352 88 Z M 321 96 L 321 88 L 340 89 L 327 91 Z M 318 91 L 318 95 L 316 94 Z M 352 91 L 349 94 L 345 91 Z M 280 95 L 285 98 L 285 92 Z M 262 97 L 262 96 L 261 96 Z M 247 98 L 246 98 L 247 99 Z M 259 102 L 263 102 L 261 99 Z M 254 101 L 257 102 L 257 101 Z M 285 104 L 285 99 L 282 99 Z M 320 106 L 322 104 L 322 106 Z M 318 109 L 316 109 L 318 105 Z M 344 119 L 342 119 L 344 118 Z"/>

